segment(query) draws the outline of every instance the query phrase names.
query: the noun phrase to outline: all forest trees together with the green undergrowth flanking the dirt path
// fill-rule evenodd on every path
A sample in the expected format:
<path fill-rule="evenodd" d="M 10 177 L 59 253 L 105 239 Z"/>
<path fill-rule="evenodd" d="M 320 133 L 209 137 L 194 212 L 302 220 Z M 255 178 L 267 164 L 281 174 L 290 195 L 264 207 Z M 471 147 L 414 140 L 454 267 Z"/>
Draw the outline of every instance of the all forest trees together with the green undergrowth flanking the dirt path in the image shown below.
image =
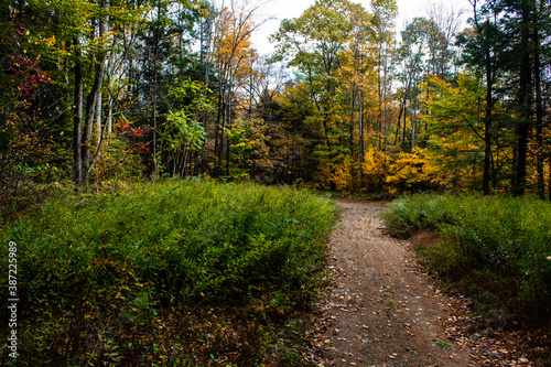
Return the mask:
<path fill-rule="evenodd" d="M 471 6 L 316 0 L 263 55 L 253 1 L 0 0 L 19 363 L 310 366 L 331 196 L 398 198 L 431 271 L 549 315 L 551 3 Z"/>

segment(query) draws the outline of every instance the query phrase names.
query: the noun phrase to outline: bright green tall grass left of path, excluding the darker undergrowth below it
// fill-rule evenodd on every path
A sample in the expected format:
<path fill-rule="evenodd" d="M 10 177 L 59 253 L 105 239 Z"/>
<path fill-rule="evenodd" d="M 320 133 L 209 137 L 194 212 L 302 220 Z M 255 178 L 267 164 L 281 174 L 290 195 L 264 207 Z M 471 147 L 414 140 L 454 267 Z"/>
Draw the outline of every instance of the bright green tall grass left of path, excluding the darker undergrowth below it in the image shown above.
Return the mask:
<path fill-rule="evenodd" d="M 305 307 L 334 220 L 328 199 L 252 184 L 168 181 L 60 196 L 1 235 L 2 269 L 8 242 L 18 244 L 29 321 L 20 350 L 39 357 L 57 343 L 76 358 L 90 353 L 91 330 L 116 339 L 118 327 L 147 328 L 175 307 Z"/>

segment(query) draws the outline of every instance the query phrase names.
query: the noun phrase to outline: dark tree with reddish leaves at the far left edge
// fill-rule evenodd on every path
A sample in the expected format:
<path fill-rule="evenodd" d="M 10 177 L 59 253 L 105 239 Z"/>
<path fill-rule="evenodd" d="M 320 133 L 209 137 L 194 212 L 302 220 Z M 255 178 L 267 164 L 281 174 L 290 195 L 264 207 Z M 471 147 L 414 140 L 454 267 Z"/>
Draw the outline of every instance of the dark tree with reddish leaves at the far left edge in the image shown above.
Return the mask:
<path fill-rule="evenodd" d="M 13 198 L 55 173 L 50 166 L 65 156 L 55 144 L 63 141 L 60 126 L 50 123 L 51 108 L 43 106 L 52 88 L 41 54 L 32 48 L 26 15 L 12 4 L 0 7 L 0 211 L 15 207 Z M 54 121 L 55 122 L 55 121 Z M 31 195 L 33 196 L 33 195 Z M 8 204 L 8 205 L 7 205 Z"/>

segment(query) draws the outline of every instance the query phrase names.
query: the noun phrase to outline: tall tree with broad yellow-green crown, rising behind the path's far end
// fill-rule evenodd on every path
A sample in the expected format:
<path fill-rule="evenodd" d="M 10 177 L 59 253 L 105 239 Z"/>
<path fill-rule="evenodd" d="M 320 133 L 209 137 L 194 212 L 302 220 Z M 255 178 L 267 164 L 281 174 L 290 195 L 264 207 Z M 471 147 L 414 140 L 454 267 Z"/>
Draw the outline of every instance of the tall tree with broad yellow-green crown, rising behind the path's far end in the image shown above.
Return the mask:
<path fill-rule="evenodd" d="M 309 116 L 307 121 L 317 126 L 322 134 L 314 153 L 322 172 L 317 177 L 333 190 L 337 186 L 336 181 L 342 181 L 336 176 L 337 172 L 350 176 L 341 165 L 354 166 L 350 155 L 354 119 L 349 112 L 353 109 L 348 106 L 358 96 L 350 94 L 347 87 L 356 88 L 357 91 L 360 88 L 361 76 L 358 77 L 358 72 L 366 63 L 360 53 L 367 50 L 360 43 L 365 44 L 370 37 L 368 21 L 367 12 L 347 0 L 316 1 L 300 18 L 284 20 L 272 35 L 272 40 L 278 42 L 273 61 L 287 61 L 290 66 L 298 68 L 301 90 L 307 93 L 315 106 L 314 115 Z M 358 82 L 355 85 L 347 79 L 350 75 L 350 68 L 346 65 L 350 61 L 350 46 L 356 47 L 356 54 L 352 52 L 352 62 L 356 63 L 352 67 L 356 67 L 353 77 Z M 359 120 L 364 121 L 364 118 Z M 363 133 L 364 128 L 359 131 Z"/>

